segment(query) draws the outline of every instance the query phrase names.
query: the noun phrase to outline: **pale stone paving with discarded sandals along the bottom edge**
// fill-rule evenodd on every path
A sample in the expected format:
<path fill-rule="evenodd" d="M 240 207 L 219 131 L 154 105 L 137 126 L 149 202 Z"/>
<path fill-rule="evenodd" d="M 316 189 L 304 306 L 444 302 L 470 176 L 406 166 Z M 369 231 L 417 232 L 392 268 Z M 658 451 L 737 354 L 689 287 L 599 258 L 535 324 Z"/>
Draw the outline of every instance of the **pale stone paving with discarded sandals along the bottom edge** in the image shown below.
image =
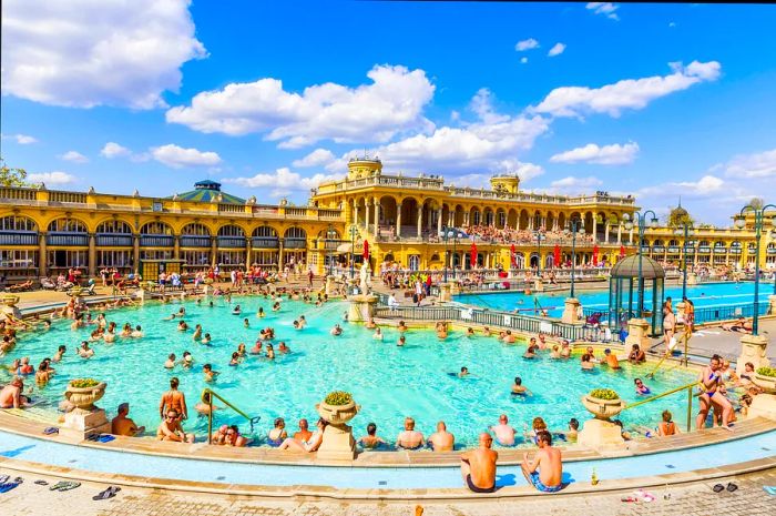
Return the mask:
<path fill-rule="evenodd" d="M 0 474 L 16 476 L 14 472 Z M 124 487 L 115 498 L 92 500 L 108 485 L 83 483 L 76 489 L 59 493 L 35 485 L 37 479 L 53 485 L 51 476 L 27 476 L 16 489 L 0 494 L 0 514 L 13 516 L 416 516 L 417 503 L 347 503 L 334 500 L 264 500 L 238 496 L 183 493 Z M 712 486 L 735 482 L 738 490 L 716 494 Z M 653 503 L 625 503 L 629 493 L 591 495 L 543 495 L 524 499 L 451 503 L 422 503 L 423 516 L 491 516 L 491 515 L 671 515 L 758 516 L 776 514 L 776 496 L 763 486 L 776 485 L 776 469 L 708 483 L 653 489 Z"/>

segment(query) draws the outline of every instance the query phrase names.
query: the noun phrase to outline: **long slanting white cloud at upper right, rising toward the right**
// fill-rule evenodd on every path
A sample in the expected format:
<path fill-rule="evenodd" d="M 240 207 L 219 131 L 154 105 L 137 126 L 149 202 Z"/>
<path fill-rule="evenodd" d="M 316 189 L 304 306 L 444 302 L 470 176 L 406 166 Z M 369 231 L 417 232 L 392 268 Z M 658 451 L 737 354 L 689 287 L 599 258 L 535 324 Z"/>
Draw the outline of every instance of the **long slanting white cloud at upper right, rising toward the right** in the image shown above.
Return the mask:
<path fill-rule="evenodd" d="M 532 108 L 537 113 L 554 117 L 581 117 L 585 113 L 607 113 L 619 117 L 625 109 L 643 109 L 651 101 L 670 93 L 686 90 L 693 84 L 714 81 L 719 77 L 717 61 L 693 61 L 686 67 L 670 63 L 673 73 L 642 79 L 624 79 L 614 84 L 591 89 L 562 87 L 552 90 L 544 100 Z"/>

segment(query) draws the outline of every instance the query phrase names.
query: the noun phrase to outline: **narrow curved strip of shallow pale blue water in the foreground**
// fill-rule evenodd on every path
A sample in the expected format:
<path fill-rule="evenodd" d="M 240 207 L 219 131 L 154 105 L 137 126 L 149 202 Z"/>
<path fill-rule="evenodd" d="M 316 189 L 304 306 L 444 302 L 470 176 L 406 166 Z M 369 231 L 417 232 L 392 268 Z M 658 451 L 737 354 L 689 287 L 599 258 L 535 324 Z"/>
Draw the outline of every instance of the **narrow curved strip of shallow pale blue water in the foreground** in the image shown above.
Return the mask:
<path fill-rule="evenodd" d="M 0 432 L 0 455 L 58 466 L 176 480 L 219 482 L 268 486 L 319 485 L 338 488 L 439 488 L 461 487 L 458 467 L 315 467 L 239 464 L 170 458 L 125 452 L 84 448 Z M 563 482 L 589 482 L 593 468 L 602 480 L 662 475 L 769 457 L 776 451 L 776 432 L 737 441 L 602 461 L 563 465 Z M 28 480 L 30 482 L 30 480 Z M 499 466 L 496 485 L 522 486 L 518 466 Z"/>

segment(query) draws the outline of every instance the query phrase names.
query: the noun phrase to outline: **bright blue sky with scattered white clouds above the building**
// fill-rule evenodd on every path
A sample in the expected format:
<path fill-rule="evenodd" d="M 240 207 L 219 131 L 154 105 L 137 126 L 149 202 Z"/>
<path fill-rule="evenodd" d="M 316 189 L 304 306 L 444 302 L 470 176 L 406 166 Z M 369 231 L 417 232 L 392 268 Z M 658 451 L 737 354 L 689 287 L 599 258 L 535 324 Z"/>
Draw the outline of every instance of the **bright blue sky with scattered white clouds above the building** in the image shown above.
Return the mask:
<path fill-rule="evenodd" d="M 305 203 L 385 173 L 776 202 L 776 4 L 6 0 L 1 153 L 49 189 L 212 179 Z"/>

